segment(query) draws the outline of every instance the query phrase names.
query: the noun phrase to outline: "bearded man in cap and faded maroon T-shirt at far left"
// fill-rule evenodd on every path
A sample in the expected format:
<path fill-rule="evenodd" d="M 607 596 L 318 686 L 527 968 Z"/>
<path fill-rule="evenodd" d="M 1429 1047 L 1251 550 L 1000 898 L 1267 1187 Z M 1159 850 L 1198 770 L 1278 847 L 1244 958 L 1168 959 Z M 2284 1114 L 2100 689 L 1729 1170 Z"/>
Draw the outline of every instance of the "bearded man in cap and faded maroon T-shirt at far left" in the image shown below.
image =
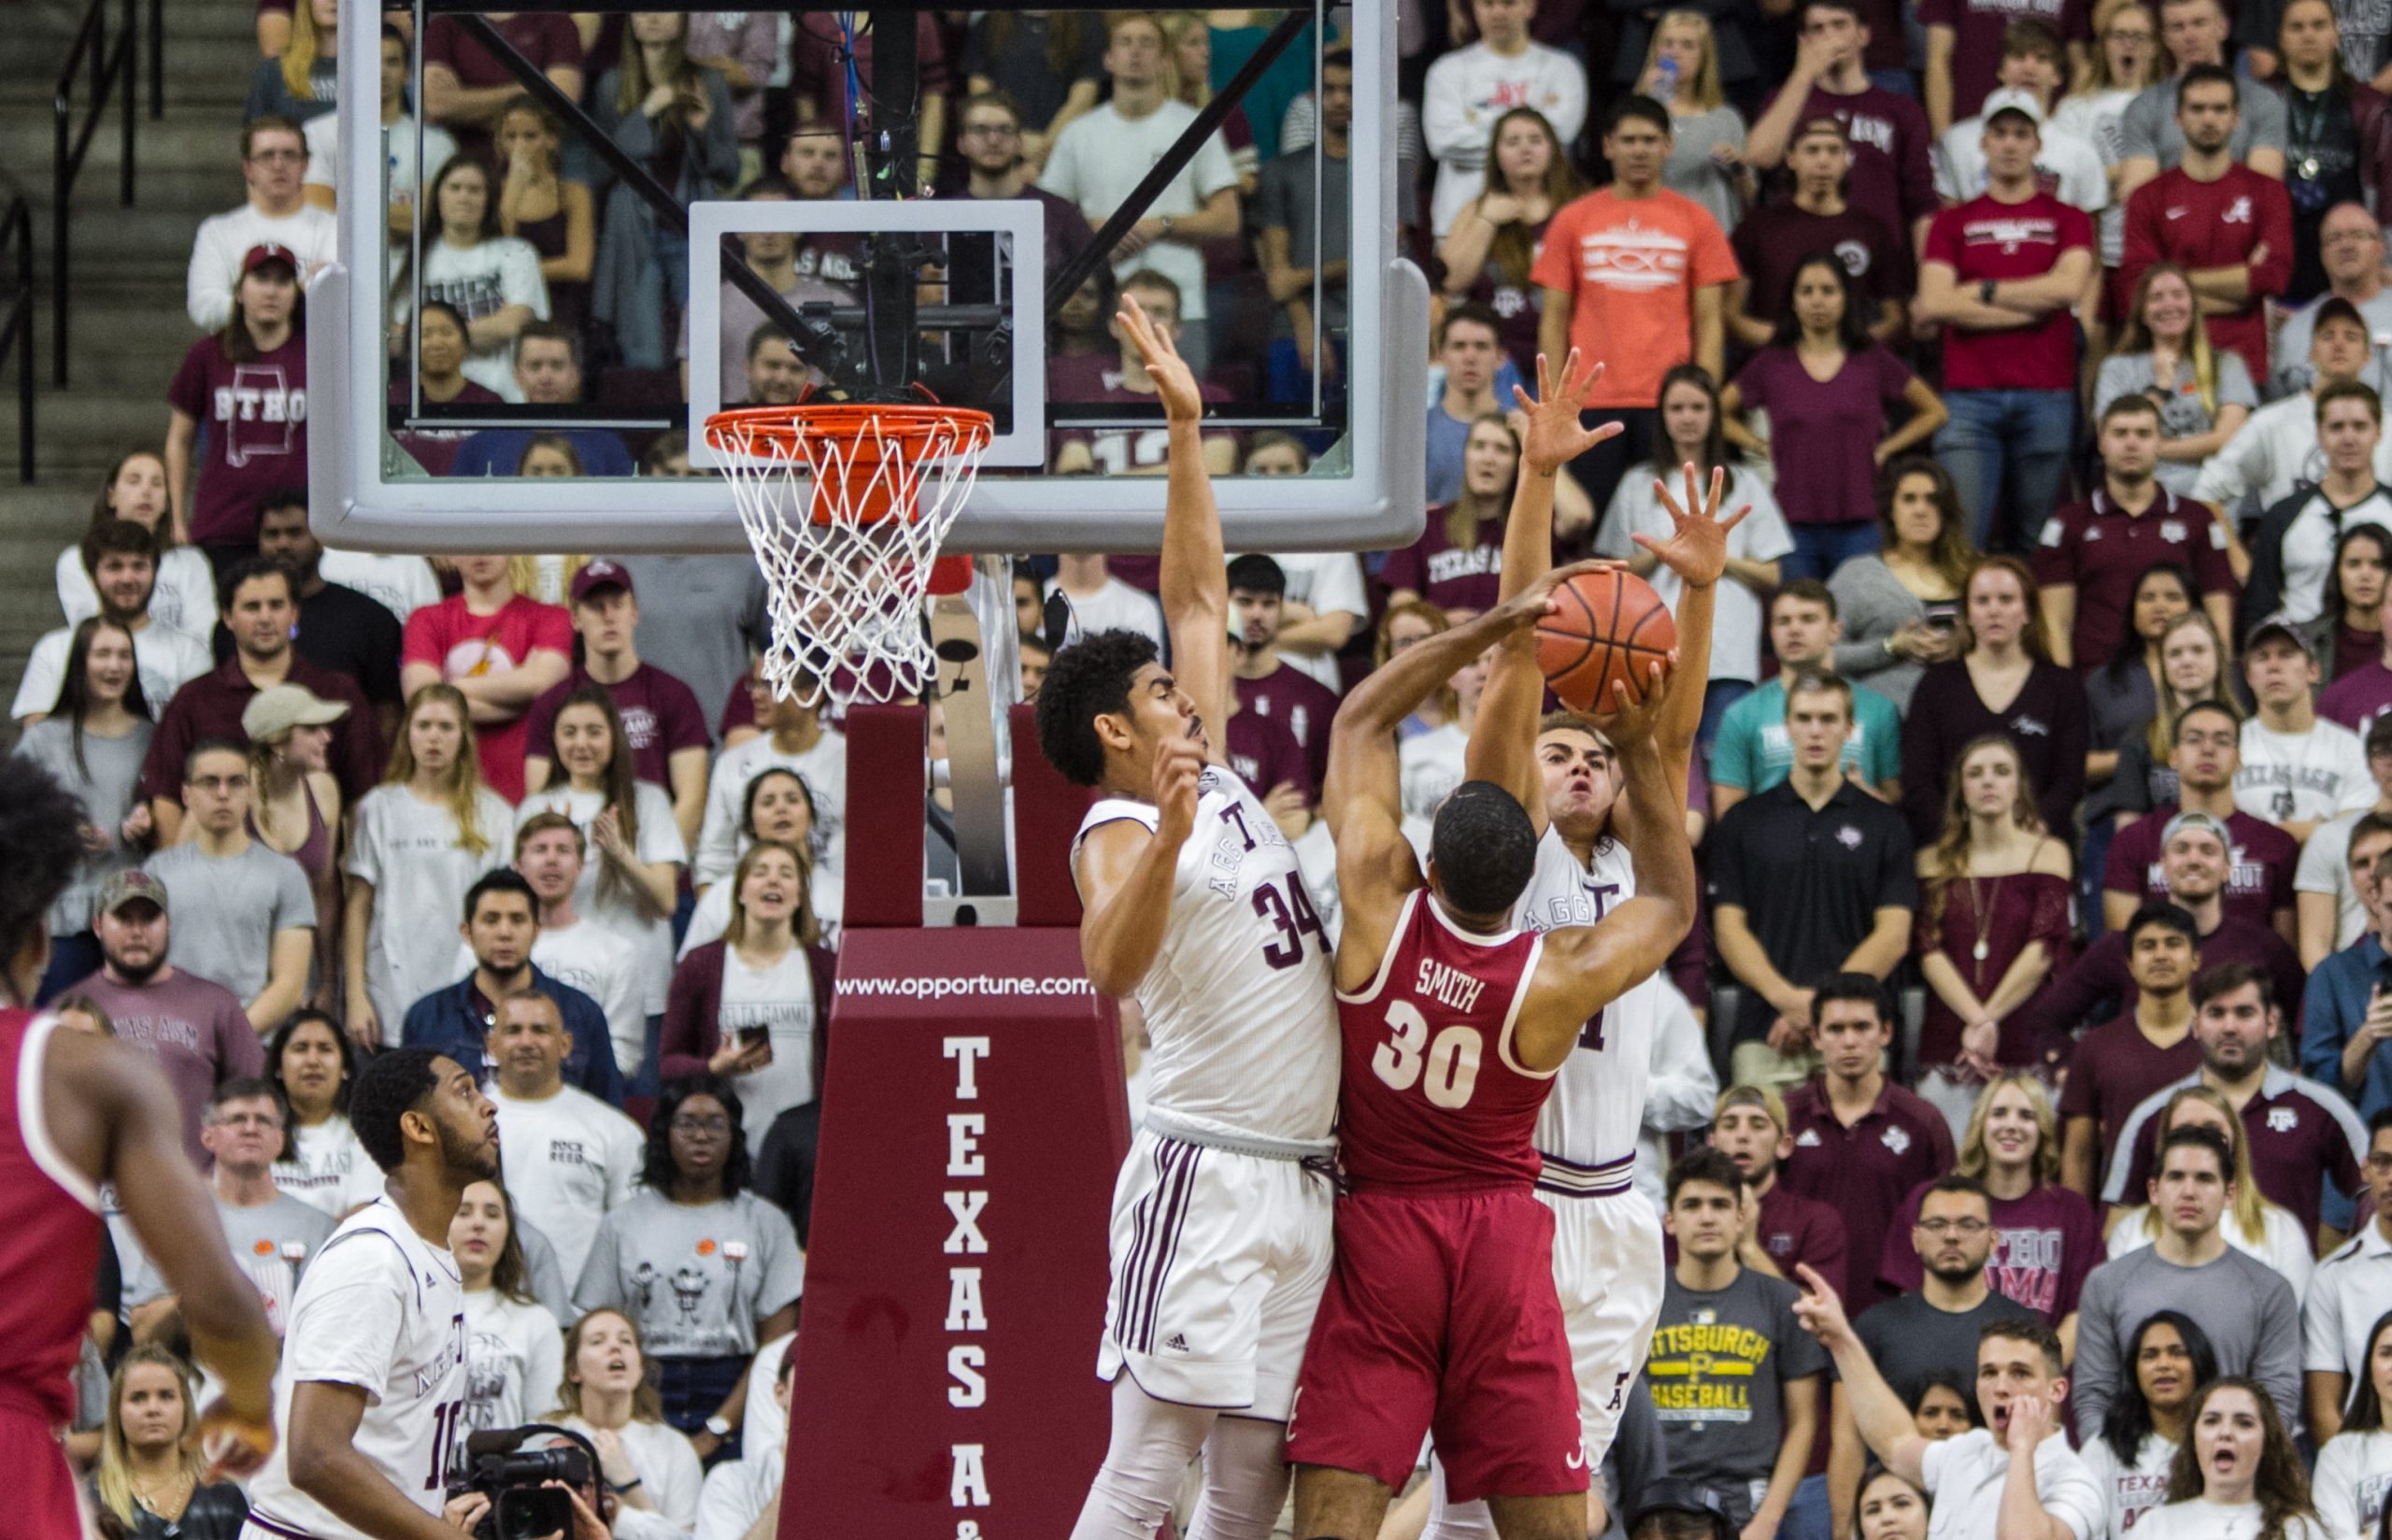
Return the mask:
<path fill-rule="evenodd" d="M 266 1074 L 258 1033 L 232 990 L 165 959 L 172 937 L 167 887 L 151 873 L 127 868 L 100 882 L 91 928 L 105 961 L 69 992 L 100 1007 L 120 1043 L 158 1059 L 182 1105 L 182 1148 L 191 1165 L 208 1169 L 201 1117 L 218 1086 Z"/>

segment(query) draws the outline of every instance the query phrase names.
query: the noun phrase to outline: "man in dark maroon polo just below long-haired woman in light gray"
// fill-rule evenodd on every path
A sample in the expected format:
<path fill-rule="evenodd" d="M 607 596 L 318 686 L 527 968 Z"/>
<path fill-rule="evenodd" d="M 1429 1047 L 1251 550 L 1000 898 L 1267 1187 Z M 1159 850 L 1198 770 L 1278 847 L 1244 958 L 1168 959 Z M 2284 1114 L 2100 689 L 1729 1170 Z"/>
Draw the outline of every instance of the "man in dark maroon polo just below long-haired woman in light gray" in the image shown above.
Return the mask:
<path fill-rule="evenodd" d="M 2220 634 L 2234 627 L 2227 528 L 2205 502 L 2160 485 L 2160 404 L 2124 395 L 2100 414 L 2103 483 L 2052 514 L 2036 543 L 2036 581 L 2052 662 L 2091 672 L 2126 641 L 2134 588 L 2158 562 L 2184 567 Z"/>

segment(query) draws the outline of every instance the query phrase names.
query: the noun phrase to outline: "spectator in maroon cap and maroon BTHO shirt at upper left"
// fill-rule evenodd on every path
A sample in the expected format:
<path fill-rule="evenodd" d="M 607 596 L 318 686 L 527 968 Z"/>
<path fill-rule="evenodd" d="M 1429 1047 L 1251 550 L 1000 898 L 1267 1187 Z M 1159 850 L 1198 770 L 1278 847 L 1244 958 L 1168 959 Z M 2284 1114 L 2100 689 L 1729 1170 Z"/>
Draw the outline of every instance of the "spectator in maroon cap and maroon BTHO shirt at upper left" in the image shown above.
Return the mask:
<path fill-rule="evenodd" d="M 297 139 L 297 134 L 292 134 Z M 230 285 L 220 332 L 184 354 L 167 385 L 167 514 L 175 540 L 199 545 L 215 574 L 258 550 L 258 497 L 306 481 L 306 304 L 301 258 L 251 246 Z M 208 430 L 199 454 L 201 423 Z"/>

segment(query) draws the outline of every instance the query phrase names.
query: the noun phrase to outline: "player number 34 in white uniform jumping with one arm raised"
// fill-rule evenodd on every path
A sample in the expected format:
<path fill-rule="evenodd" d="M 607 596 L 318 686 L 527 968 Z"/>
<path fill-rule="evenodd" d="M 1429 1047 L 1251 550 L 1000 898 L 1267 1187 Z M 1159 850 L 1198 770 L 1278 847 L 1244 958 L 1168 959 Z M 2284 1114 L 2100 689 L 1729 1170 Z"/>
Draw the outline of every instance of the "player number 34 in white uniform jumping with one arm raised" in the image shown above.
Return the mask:
<path fill-rule="evenodd" d="M 1112 1440 L 1074 1540 L 1146 1540 L 1203 1456 L 1191 1540 L 1265 1540 L 1287 1408 L 1330 1267 L 1337 1004 L 1294 849 L 1229 768 L 1229 581 L 1196 375 L 1124 297 L 1170 421 L 1163 617 L 1055 653 L 1038 744 L 1100 801 L 1072 842 L 1088 980 L 1153 1040 L 1112 1193 L 1098 1375 Z"/>

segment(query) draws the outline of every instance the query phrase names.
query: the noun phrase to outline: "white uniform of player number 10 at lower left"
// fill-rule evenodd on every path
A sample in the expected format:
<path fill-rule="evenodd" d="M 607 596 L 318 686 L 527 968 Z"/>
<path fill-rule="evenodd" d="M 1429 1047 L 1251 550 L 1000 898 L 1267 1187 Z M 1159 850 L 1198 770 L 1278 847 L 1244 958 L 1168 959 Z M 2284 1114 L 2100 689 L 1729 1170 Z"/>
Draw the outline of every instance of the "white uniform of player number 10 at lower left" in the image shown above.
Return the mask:
<path fill-rule="evenodd" d="M 301 1380 L 354 1385 L 366 1416 L 352 1447 L 426 1514 L 447 1502 L 447 1459 L 466 1404 L 464 1289 L 457 1260 L 414 1232 L 390 1198 L 349 1215 L 323 1243 L 282 1337 L 275 1428 Z M 289 1480 L 289 1437 L 249 1487 L 251 1528 L 366 1540 Z"/>

